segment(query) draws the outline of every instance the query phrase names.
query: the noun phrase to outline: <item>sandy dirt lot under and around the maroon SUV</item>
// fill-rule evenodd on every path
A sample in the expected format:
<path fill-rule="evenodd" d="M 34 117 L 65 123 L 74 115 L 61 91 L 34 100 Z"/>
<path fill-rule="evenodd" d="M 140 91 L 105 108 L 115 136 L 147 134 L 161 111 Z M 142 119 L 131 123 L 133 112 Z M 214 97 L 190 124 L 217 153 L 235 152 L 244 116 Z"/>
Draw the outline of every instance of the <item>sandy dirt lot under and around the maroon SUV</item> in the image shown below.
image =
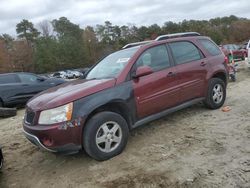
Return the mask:
<path fill-rule="evenodd" d="M 22 134 L 24 110 L 0 120 L 0 187 L 250 187 L 250 71 L 229 83 L 225 105 L 198 104 L 131 132 L 105 162 L 43 152 Z"/>

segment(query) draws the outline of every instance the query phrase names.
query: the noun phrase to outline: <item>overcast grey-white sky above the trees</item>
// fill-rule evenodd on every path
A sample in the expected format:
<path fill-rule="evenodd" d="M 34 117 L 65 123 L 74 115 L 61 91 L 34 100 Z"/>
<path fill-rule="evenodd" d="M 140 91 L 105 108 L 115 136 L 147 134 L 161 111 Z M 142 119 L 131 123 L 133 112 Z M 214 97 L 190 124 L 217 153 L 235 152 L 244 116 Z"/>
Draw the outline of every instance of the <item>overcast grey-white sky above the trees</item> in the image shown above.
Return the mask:
<path fill-rule="evenodd" d="M 250 0 L 0 0 L 0 34 L 15 35 L 22 19 L 36 26 L 65 16 L 84 28 L 106 20 L 147 26 L 230 15 L 250 18 Z"/>

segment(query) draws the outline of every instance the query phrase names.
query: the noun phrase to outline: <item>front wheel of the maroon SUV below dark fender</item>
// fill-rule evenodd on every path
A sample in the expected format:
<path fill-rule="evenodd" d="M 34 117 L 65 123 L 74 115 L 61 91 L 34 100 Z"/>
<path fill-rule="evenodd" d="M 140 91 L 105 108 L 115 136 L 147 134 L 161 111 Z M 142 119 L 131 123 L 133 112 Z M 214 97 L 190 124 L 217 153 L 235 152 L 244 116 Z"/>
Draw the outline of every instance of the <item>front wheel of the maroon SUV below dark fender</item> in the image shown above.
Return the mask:
<path fill-rule="evenodd" d="M 128 133 L 127 122 L 121 115 L 100 112 L 94 115 L 84 128 L 84 150 L 98 161 L 110 159 L 124 150 Z"/>

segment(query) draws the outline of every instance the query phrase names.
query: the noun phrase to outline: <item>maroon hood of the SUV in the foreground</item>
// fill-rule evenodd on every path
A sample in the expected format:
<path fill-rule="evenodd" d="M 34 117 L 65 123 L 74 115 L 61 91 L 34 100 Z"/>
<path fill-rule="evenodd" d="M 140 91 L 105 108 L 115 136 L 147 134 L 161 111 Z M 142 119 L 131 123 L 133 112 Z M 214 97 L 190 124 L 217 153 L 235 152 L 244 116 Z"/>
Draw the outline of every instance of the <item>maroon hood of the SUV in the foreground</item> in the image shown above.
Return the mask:
<path fill-rule="evenodd" d="M 35 111 L 55 108 L 115 85 L 116 79 L 76 80 L 35 95 L 27 107 Z"/>

